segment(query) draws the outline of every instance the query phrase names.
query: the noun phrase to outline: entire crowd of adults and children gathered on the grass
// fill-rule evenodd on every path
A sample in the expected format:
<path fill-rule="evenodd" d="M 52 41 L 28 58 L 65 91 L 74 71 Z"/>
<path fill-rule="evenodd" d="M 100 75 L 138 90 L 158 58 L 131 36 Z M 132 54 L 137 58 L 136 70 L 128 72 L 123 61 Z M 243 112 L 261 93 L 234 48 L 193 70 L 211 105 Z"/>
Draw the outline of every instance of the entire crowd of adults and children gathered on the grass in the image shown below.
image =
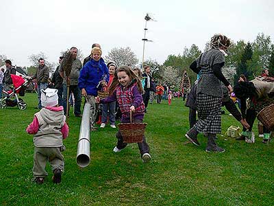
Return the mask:
<path fill-rule="evenodd" d="M 143 73 L 139 68 L 127 66 L 117 67 L 114 62 L 106 65 L 99 44 L 92 45 L 91 53 L 84 59 L 84 64 L 77 58 L 78 49 L 71 47 L 73 57 L 70 72 L 67 72 L 64 57 L 60 56 L 60 65 L 49 78 L 49 69 L 45 60 L 38 60 L 39 67 L 32 76 L 36 79 L 38 91 L 38 107 L 40 111 L 34 114 L 34 119 L 27 127 L 27 133 L 34 135 L 34 168 L 33 174 L 36 183 L 44 182 L 47 172 L 47 161 L 53 170 L 53 182 L 60 183 L 64 171 L 64 157 L 62 139 L 69 135 L 69 126 L 66 124 L 66 115 L 69 115 L 67 98 L 74 97 L 75 117 L 82 117 L 81 104 L 90 104 L 90 130 L 96 131 L 99 108 L 101 108 L 100 128 L 105 128 L 108 122 L 110 127 L 116 128 L 117 108 L 121 113 L 121 123 L 130 122 L 130 113 L 134 122 L 142 122 L 149 100 L 156 100 L 161 104 L 162 98 L 167 99 L 169 105 L 174 96 L 183 95 L 186 106 L 189 107 L 190 129 L 186 138 L 195 146 L 199 146 L 197 135 L 203 133 L 208 138 L 206 152 L 225 152 L 216 144 L 216 135 L 221 133 L 221 106 L 237 119 L 243 126 L 243 132 L 237 140 L 250 138 L 256 115 L 262 108 L 274 103 L 274 78 L 264 70 L 262 76 L 248 81 L 242 75 L 238 83 L 232 88 L 222 73 L 225 65 L 225 56 L 230 45 L 227 36 L 216 34 L 211 38 L 211 49 L 201 54 L 190 69 L 197 73 L 197 81 L 192 85 L 187 96 L 186 92 L 173 93 L 169 87 L 158 82 L 151 76 L 149 65 L 144 67 Z M 6 61 L 5 75 L 0 71 L 0 82 L 6 85 L 10 82 L 12 71 L 10 60 Z M 50 79 L 50 80 L 49 80 Z M 2 84 L 0 84 L 0 88 Z M 101 97 L 99 93 L 108 95 Z M 248 100 L 248 101 L 247 101 Z M 151 102 L 151 103 L 152 103 Z M 238 102 L 240 111 L 236 107 Z M 101 105 L 101 106 L 100 106 Z M 198 117 L 197 117 L 198 114 Z M 264 127 L 263 142 L 269 142 L 271 131 Z M 117 143 L 113 152 L 120 152 L 127 146 L 119 130 L 116 133 Z M 142 142 L 138 142 L 140 157 L 144 163 L 151 160 L 150 148 L 145 135 Z"/>

